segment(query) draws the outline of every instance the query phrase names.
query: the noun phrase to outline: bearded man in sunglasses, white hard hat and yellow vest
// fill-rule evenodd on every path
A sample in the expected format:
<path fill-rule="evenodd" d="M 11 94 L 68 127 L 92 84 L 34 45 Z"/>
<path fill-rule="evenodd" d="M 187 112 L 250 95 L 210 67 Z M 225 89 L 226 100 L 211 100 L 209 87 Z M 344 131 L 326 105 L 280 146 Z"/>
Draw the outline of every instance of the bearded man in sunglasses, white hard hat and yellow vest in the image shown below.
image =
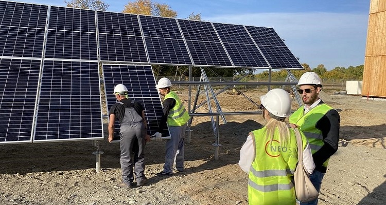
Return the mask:
<path fill-rule="evenodd" d="M 323 103 L 319 98 L 322 90 L 322 79 L 314 72 L 304 73 L 297 83 L 297 90 L 305 104 L 289 118 L 291 127 L 300 128 L 306 135 L 315 162 L 315 171 L 310 175 L 313 186 L 320 192 L 324 174 L 327 171 L 328 159 L 338 150 L 339 113 Z M 301 203 L 318 204 L 318 199 Z"/>

